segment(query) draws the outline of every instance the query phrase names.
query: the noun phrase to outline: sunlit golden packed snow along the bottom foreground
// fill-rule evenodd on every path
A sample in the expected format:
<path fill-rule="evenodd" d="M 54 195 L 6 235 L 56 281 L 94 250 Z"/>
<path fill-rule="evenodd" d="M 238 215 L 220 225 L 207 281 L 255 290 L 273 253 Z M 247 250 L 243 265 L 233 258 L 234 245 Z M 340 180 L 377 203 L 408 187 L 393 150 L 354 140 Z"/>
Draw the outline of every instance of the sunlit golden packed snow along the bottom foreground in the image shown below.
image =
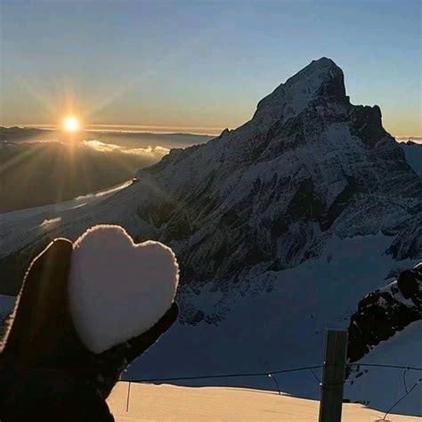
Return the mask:
<path fill-rule="evenodd" d="M 120 382 L 107 401 L 116 422 L 140 420 L 289 421 L 318 420 L 320 402 L 247 388 L 145 385 Z M 388 422 L 420 422 L 421 418 L 389 414 Z M 384 412 L 344 403 L 343 422 L 381 421 Z"/>

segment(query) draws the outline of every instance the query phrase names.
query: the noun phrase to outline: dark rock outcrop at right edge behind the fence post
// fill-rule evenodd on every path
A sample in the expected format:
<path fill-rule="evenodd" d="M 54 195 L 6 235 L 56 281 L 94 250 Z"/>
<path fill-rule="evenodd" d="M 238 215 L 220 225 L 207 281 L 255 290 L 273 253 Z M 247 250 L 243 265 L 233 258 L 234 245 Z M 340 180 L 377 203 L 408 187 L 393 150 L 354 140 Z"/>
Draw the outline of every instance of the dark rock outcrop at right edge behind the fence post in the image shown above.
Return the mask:
<path fill-rule="evenodd" d="M 387 288 L 365 296 L 349 325 L 349 361 L 359 361 L 379 342 L 422 318 L 422 264 Z"/>

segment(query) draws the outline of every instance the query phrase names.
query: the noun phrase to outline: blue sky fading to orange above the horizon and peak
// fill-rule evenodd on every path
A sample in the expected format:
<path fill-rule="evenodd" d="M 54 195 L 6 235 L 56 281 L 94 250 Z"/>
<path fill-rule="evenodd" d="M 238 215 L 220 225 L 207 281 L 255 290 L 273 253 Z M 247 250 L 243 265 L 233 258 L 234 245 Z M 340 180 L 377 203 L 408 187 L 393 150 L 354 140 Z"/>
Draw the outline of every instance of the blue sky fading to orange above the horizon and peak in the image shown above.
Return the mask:
<path fill-rule="evenodd" d="M 322 56 L 387 131 L 421 136 L 421 2 L 0 0 L 0 126 L 215 134 Z"/>

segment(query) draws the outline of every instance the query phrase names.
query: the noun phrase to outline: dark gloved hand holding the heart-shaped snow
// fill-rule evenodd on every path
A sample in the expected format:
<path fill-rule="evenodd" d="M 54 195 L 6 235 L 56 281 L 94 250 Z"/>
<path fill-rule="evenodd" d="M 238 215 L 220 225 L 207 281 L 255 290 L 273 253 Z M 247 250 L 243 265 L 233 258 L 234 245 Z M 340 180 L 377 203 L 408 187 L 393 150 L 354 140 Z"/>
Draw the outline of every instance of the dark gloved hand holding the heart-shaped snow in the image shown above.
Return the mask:
<path fill-rule="evenodd" d="M 69 309 L 72 243 L 54 240 L 30 264 L 0 354 L 0 420 L 113 421 L 105 399 L 126 366 L 177 318 L 177 304 L 148 331 L 89 351 Z"/>

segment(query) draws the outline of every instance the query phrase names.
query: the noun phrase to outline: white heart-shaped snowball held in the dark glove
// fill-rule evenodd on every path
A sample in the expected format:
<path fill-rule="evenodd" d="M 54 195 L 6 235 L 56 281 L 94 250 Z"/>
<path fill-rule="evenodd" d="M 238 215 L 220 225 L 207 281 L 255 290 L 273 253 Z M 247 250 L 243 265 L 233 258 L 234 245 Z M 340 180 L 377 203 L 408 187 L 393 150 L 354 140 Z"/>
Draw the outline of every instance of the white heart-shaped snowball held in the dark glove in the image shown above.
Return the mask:
<path fill-rule="evenodd" d="M 150 329 L 174 301 L 179 267 L 172 249 L 138 245 L 117 225 L 97 225 L 74 244 L 69 302 L 79 337 L 101 353 Z"/>

